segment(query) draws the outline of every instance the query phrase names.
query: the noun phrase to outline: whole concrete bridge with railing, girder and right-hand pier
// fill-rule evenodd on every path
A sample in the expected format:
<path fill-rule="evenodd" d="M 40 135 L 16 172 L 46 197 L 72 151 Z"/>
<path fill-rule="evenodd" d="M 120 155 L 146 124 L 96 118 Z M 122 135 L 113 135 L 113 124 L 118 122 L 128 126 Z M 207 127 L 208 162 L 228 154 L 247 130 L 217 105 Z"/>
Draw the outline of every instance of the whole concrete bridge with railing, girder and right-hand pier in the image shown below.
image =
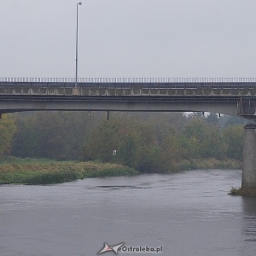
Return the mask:
<path fill-rule="evenodd" d="M 0 78 L 0 115 L 20 111 L 212 112 L 256 119 L 256 79 Z M 242 188 L 256 189 L 256 125 L 245 127 Z"/>

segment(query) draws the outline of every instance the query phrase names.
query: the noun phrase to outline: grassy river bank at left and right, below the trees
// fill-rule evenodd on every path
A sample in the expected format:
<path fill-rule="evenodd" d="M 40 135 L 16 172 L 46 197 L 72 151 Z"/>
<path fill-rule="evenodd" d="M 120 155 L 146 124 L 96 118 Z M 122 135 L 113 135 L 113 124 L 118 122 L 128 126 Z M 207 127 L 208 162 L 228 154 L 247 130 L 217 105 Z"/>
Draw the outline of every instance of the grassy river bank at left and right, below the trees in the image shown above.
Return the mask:
<path fill-rule="evenodd" d="M 195 169 L 241 169 L 237 160 L 182 160 L 170 172 Z M 97 161 L 56 161 L 6 157 L 0 160 L 0 185 L 9 183 L 53 184 L 66 183 L 86 177 L 117 177 L 138 175 L 131 167 Z"/>

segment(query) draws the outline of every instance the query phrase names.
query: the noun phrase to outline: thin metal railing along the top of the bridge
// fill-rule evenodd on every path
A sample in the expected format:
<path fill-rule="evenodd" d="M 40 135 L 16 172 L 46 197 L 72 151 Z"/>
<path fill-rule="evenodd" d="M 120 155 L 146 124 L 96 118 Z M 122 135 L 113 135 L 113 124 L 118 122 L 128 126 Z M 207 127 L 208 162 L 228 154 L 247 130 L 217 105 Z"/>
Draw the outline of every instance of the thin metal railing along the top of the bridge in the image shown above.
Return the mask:
<path fill-rule="evenodd" d="M 49 83 L 49 84 L 70 84 L 75 83 L 74 78 L 0 78 L 0 83 Z M 256 83 L 256 78 L 79 78 L 78 83 Z"/>

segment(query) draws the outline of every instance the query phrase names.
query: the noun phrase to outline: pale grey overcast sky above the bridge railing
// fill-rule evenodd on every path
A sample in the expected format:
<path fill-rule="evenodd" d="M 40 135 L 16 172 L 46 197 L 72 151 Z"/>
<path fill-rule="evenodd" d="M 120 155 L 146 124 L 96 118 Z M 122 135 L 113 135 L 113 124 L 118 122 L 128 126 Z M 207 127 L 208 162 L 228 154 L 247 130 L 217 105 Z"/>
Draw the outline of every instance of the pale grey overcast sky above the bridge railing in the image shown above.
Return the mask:
<path fill-rule="evenodd" d="M 81 0 L 80 78 L 256 77 L 255 0 Z M 0 78 L 73 78 L 74 0 L 0 0 Z"/>

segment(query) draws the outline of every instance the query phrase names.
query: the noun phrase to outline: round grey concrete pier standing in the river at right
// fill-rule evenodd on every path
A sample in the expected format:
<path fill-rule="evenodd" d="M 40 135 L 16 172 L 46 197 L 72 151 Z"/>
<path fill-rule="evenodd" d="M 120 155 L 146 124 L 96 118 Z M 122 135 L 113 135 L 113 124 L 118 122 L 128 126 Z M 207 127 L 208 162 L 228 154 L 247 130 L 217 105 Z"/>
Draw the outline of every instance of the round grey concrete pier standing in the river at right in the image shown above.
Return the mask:
<path fill-rule="evenodd" d="M 241 189 L 256 189 L 256 125 L 245 125 Z"/>

